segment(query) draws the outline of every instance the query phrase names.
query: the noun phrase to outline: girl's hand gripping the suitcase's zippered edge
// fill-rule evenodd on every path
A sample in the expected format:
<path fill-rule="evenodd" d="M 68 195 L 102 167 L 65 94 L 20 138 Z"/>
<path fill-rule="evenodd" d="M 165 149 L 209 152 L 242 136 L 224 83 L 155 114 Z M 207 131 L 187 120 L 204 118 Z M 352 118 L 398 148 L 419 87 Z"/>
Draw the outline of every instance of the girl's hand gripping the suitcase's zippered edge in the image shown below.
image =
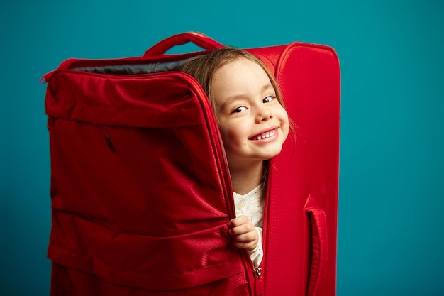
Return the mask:
<path fill-rule="evenodd" d="M 238 216 L 228 221 L 228 234 L 233 236 L 233 244 L 245 250 L 254 250 L 259 243 L 259 234 L 247 216 Z"/>

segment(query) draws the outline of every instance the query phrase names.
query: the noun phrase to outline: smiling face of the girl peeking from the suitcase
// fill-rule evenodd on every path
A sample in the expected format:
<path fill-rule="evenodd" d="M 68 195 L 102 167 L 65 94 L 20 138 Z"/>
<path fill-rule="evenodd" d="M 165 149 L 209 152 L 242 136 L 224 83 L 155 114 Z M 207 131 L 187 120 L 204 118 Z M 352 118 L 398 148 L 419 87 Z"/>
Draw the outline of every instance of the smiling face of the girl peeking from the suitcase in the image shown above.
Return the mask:
<path fill-rule="evenodd" d="M 287 111 L 260 65 L 245 58 L 223 65 L 213 77 L 212 96 L 230 170 L 282 150 Z"/>

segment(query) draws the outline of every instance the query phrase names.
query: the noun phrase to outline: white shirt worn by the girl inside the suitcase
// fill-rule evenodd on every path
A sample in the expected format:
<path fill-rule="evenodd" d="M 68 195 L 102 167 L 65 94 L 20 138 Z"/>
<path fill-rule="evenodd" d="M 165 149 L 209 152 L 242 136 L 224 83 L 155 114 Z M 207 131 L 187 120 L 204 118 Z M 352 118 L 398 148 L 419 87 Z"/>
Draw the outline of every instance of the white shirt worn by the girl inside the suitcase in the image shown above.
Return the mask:
<path fill-rule="evenodd" d="M 259 242 L 254 250 L 248 251 L 248 255 L 257 268 L 262 261 L 262 224 L 264 221 L 264 202 L 262 201 L 262 185 L 257 186 L 247 194 L 240 195 L 233 192 L 236 216 L 247 216 L 255 226 Z"/>

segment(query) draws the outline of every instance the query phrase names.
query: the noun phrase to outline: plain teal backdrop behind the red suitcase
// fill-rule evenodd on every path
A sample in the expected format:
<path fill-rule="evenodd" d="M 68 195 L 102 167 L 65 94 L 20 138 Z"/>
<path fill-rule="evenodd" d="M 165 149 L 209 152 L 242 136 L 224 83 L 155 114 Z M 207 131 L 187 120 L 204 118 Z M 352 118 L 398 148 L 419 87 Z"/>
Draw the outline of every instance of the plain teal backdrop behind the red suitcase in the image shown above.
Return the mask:
<path fill-rule="evenodd" d="M 175 33 L 330 45 L 341 64 L 338 296 L 444 295 L 444 2 L 0 4 L 0 295 L 48 295 L 50 162 L 40 77 L 142 55 Z"/>

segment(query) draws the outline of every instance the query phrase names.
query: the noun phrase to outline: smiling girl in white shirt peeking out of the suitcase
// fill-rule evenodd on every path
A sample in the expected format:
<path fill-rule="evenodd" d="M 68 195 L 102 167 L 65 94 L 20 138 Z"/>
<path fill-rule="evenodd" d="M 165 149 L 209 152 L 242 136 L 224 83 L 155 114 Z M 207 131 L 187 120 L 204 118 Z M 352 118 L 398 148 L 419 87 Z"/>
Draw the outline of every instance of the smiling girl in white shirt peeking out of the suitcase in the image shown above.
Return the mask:
<path fill-rule="evenodd" d="M 279 87 L 261 60 L 237 48 L 194 57 L 182 71 L 196 78 L 213 106 L 234 191 L 236 217 L 228 222 L 228 234 L 257 268 L 268 162 L 289 133 Z"/>

